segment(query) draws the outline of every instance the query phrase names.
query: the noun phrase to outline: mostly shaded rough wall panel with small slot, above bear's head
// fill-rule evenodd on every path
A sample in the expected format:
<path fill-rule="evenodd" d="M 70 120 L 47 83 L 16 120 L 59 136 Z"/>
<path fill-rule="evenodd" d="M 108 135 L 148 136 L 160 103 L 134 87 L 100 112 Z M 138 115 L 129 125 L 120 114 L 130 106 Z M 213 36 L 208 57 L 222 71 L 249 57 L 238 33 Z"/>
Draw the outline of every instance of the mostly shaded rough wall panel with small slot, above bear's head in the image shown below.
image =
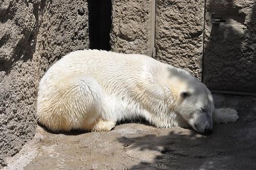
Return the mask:
<path fill-rule="evenodd" d="M 237 23 L 212 24 L 216 17 Z M 206 1 L 203 82 L 210 89 L 256 92 L 255 1 Z"/>

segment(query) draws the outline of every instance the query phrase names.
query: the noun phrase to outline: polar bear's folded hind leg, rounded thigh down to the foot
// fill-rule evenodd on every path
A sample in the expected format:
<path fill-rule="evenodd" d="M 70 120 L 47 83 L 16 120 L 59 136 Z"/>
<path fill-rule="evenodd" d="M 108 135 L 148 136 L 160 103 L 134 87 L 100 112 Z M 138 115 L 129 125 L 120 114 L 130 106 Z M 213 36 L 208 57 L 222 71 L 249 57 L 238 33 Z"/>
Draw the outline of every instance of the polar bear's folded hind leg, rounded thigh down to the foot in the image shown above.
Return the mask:
<path fill-rule="evenodd" d="M 94 78 L 69 75 L 57 81 L 54 89 L 40 100 L 37 113 L 38 121 L 50 130 L 110 131 L 113 128 L 113 122 L 100 119 L 104 94 Z"/>

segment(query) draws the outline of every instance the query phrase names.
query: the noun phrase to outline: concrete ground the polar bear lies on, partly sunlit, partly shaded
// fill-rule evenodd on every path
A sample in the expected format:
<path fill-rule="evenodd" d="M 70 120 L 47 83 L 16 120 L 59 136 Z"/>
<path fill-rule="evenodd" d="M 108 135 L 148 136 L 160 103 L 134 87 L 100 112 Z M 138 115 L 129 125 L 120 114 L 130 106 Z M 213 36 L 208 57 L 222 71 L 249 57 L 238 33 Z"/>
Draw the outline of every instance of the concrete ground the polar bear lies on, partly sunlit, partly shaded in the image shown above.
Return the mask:
<path fill-rule="evenodd" d="M 237 109 L 238 122 L 214 125 L 209 136 L 142 123 L 67 134 L 38 126 L 4 169 L 256 169 L 256 97 L 215 94 L 214 101 Z"/>

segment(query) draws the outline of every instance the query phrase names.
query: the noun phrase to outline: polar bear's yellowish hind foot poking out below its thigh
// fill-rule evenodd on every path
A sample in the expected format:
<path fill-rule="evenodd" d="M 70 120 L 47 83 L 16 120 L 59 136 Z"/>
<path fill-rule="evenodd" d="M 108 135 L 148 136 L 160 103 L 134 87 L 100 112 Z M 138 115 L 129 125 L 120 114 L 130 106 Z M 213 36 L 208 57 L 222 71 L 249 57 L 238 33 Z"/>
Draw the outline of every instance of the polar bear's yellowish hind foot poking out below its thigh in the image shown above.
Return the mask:
<path fill-rule="evenodd" d="M 96 120 L 92 127 L 92 132 L 111 131 L 115 126 L 114 121 L 107 121 L 102 118 Z"/>

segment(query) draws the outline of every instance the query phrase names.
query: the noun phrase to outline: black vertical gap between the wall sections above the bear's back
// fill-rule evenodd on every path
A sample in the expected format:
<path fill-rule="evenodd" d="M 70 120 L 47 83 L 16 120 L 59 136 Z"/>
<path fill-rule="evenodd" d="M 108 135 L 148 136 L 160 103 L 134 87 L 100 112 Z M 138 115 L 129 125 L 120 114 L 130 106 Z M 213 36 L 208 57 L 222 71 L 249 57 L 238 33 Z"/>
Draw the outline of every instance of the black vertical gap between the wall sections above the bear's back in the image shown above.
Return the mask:
<path fill-rule="evenodd" d="M 90 49 L 110 51 L 111 0 L 88 0 Z"/>

